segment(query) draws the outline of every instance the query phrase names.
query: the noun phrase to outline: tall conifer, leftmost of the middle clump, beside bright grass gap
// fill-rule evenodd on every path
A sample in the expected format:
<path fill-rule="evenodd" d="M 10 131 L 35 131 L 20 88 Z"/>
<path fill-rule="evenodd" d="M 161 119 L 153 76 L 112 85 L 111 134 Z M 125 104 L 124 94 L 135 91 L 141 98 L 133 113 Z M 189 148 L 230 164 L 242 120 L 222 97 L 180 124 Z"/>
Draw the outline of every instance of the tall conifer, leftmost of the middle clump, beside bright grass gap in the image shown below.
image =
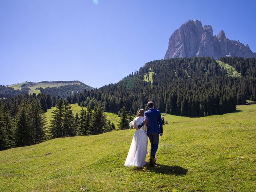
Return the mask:
<path fill-rule="evenodd" d="M 63 137 L 64 105 L 62 98 L 58 100 L 56 110 L 54 110 L 52 114 L 52 120 L 50 122 L 50 134 L 52 135 L 52 138 Z"/>

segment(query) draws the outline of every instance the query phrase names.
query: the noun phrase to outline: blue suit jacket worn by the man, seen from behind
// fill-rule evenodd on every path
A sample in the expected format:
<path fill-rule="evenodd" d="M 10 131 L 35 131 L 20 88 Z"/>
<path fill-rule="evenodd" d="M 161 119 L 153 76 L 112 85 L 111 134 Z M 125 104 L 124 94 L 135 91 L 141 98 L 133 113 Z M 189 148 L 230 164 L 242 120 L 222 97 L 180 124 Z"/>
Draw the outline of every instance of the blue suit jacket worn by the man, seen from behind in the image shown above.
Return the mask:
<path fill-rule="evenodd" d="M 147 110 L 145 113 L 145 118 L 141 124 L 138 125 L 138 128 L 141 128 L 145 123 L 147 125 L 147 134 L 152 132 L 162 133 L 163 132 L 163 124 L 160 111 L 151 108 Z"/>

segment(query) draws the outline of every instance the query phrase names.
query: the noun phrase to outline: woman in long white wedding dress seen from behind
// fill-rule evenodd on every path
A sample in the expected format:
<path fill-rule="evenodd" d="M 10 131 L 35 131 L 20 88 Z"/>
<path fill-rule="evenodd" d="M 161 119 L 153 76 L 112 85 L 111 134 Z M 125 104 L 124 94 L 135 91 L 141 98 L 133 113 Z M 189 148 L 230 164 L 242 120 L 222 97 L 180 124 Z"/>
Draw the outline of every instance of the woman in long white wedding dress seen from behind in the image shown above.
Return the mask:
<path fill-rule="evenodd" d="M 143 109 L 140 109 L 138 117 L 134 118 L 130 125 L 133 125 L 134 128 L 139 125 L 144 120 L 144 112 Z M 148 136 L 146 134 L 146 125 L 144 125 L 134 133 L 124 166 L 142 167 L 146 165 L 146 154 L 148 154 Z"/>

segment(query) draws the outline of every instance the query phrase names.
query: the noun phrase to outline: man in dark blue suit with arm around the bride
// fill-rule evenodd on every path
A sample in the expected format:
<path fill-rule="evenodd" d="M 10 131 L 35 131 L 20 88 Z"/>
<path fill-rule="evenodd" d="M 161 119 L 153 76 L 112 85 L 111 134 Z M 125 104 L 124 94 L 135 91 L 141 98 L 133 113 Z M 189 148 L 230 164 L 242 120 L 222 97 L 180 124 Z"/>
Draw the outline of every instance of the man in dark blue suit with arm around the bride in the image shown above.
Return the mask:
<path fill-rule="evenodd" d="M 147 135 L 150 140 L 150 166 L 156 163 L 156 151 L 158 148 L 159 135 L 163 135 L 163 125 L 160 111 L 154 109 L 154 103 L 148 102 L 148 110 L 144 113 L 145 118 L 141 124 L 136 126 L 136 130 L 141 128 L 144 124 L 147 125 Z"/>

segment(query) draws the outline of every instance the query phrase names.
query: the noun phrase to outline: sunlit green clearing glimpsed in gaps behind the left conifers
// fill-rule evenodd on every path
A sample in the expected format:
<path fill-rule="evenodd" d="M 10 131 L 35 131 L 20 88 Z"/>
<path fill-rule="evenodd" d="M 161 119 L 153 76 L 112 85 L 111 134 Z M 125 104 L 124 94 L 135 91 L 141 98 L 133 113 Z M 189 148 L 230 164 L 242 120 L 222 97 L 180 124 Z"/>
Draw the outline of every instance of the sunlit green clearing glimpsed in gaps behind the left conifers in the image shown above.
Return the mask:
<path fill-rule="evenodd" d="M 82 107 L 78 106 L 78 104 L 71 104 L 71 109 L 73 110 L 73 114 L 74 116 L 76 115 L 76 113 L 80 114 L 80 110 L 82 109 Z M 50 120 L 52 120 L 52 112 L 56 109 L 56 107 L 52 107 L 50 109 L 48 109 L 48 111 L 45 113 L 46 115 L 46 122 L 49 125 Z M 86 107 L 84 107 L 84 109 L 87 110 Z M 118 128 L 117 124 L 118 121 L 120 120 L 120 117 L 118 117 L 118 115 L 116 114 L 112 114 L 112 113 L 105 113 L 107 115 L 107 118 L 114 123 L 114 125 L 116 126 L 116 128 Z"/>

